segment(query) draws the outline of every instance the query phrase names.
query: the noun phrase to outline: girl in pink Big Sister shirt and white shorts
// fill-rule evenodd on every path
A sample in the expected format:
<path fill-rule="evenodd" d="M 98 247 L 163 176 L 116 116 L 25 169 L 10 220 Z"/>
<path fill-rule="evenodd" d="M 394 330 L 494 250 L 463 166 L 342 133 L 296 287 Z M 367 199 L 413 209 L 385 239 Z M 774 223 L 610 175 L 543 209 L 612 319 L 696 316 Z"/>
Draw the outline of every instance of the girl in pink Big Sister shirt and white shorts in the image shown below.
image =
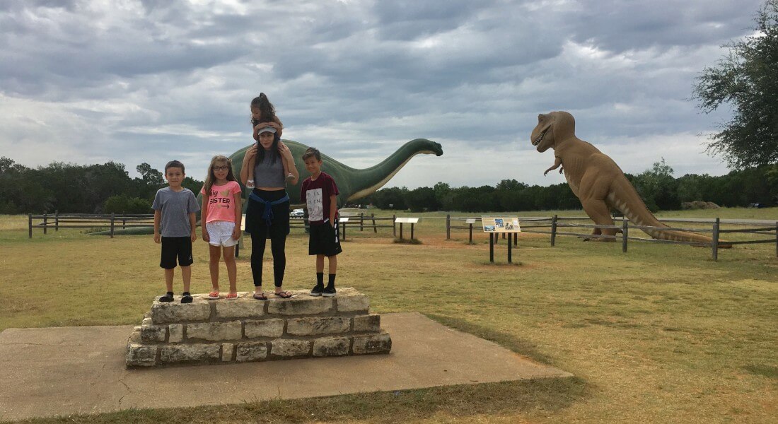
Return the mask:
<path fill-rule="evenodd" d="M 236 299 L 237 267 L 235 245 L 240 239 L 240 185 L 233 175 L 233 164 L 226 156 L 213 156 L 208 176 L 202 186 L 202 240 L 209 243 L 211 285 L 209 299 L 219 299 L 219 259 L 224 252 L 224 264 L 230 278 L 230 293 L 226 299 Z"/>

